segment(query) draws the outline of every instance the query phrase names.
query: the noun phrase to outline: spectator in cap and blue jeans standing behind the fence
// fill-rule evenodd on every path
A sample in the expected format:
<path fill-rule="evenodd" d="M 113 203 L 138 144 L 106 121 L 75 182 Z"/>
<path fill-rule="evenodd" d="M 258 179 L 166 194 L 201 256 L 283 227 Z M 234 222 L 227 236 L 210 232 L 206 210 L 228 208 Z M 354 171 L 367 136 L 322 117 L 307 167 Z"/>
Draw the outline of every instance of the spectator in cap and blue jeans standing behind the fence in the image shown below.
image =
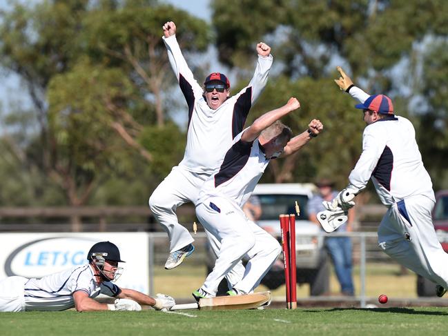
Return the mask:
<path fill-rule="evenodd" d="M 338 191 L 333 190 L 333 181 L 330 179 L 320 179 L 316 186 L 318 186 L 319 193 L 308 203 L 309 220 L 319 225 L 317 215 L 320 211 L 325 210 L 322 206 L 322 201 L 332 201 Z M 349 210 L 349 219 L 346 224 L 338 228 L 338 232 L 351 231 L 351 224 L 353 222 L 353 208 Z M 352 256 L 351 256 L 351 238 L 350 237 L 326 237 L 325 246 L 333 261 L 336 276 L 341 286 L 341 293 L 343 295 L 354 295 L 353 277 L 352 277 Z"/>

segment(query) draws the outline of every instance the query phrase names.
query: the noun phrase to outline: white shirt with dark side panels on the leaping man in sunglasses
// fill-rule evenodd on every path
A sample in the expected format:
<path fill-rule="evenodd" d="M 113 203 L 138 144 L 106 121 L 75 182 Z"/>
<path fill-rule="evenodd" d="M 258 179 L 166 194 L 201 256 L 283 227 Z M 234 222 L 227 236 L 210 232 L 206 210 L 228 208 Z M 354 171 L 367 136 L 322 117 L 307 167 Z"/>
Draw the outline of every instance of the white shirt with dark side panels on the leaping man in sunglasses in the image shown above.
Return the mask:
<path fill-rule="evenodd" d="M 179 166 L 191 172 L 210 175 L 219 167 L 233 139 L 242 131 L 251 106 L 266 86 L 273 57 L 259 55 L 249 85 L 213 110 L 203 97 L 202 86 L 188 68 L 175 35 L 163 37 L 163 40 L 171 67 L 188 105 L 186 148 Z"/>

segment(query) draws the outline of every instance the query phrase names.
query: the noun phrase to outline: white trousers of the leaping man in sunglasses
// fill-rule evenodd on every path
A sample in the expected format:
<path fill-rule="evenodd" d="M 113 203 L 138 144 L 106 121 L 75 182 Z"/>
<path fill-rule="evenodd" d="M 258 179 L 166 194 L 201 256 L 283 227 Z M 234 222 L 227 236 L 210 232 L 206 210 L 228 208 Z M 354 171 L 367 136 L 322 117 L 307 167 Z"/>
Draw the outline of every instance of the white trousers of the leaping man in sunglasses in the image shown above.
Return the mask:
<path fill-rule="evenodd" d="M 168 233 L 170 253 L 195 241 L 188 230 L 179 224 L 175 211 L 178 206 L 189 201 L 196 204 L 199 190 L 208 176 L 191 172 L 182 166 L 175 166 L 149 198 L 149 206 L 155 219 Z M 213 253 L 217 255 L 220 250 L 220 242 L 207 230 L 206 234 Z M 226 277 L 228 285 L 233 286 L 242 279 L 243 275 L 244 266 L 240 262 Z"/>

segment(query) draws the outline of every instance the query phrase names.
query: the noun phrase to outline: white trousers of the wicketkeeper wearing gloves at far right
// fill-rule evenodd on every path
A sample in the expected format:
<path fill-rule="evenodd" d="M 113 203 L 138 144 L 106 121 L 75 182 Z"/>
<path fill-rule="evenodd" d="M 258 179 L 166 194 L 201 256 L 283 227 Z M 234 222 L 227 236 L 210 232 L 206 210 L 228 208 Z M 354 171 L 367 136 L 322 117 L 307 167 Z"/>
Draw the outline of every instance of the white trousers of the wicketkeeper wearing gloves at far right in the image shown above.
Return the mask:
<path fill-rule="evenodd" d="M 448 254 L 434 230 L 433 208 L 434 201 L 422 195 L 393 204 L 378 228 L 378 245 L 402 266 L 448 289 Z"/>

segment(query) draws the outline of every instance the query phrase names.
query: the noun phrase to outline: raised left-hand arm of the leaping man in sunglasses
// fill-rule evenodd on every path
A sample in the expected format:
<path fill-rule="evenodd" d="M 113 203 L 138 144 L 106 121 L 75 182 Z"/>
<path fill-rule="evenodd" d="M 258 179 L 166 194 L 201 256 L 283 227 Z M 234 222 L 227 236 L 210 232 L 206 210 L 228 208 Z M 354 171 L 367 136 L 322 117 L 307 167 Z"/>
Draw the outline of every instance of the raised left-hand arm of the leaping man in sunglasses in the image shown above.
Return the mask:
<path fill-rule="evenodd" d="M 164 30 L 162 39 L 164 40 L 168 52 L 171 68 L 173 68 L 182 93 L 184 93 L 185 99 L 189 105 L 192 103 L 191 99 L 193 96 L 196 99 L 202 97 L 202 86 L 200 86 L 193 77 L 193 72 L 188 68 L 184 55 L 182 55 L 182 51 L 180 50 L 179 43 L 177 43 L 176 39 L 177 28 L 175 23 L 173 21 L 168 21 L 162 28 Z"/>

